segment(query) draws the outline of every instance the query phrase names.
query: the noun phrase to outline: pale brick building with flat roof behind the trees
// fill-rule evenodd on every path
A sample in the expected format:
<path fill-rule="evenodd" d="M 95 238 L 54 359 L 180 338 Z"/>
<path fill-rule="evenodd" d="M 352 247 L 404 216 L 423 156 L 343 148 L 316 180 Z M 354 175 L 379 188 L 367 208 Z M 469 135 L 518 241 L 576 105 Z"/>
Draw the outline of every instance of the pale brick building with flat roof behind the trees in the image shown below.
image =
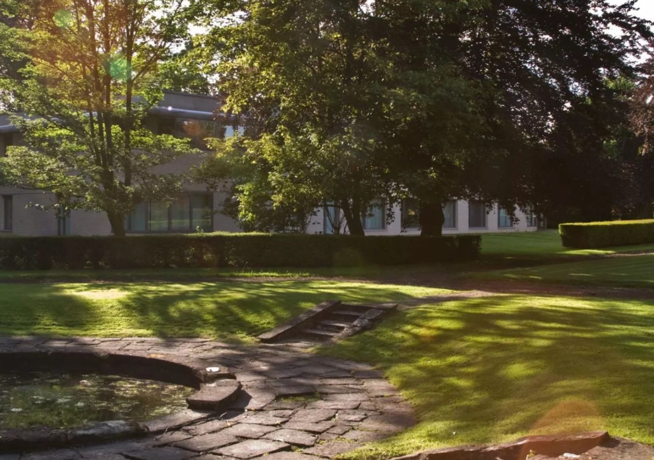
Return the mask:
<path fill-rule="evenodd" d="M 167 91 L 161 103 L 150 110 L 147 120 L 156 133 L 188 136 L 198 148 L 206 148 L 203 139 L 233 135 L 232 127 L 218 133 L 213 122 L 218 101 L 204 95 L 191 95 Z M 0 156 L 7 147 L 22 142 L 20 132 L 0 115 Z M 186 173 L 200 161 L 198 155 L 183 156 L 171 163 L 160 165 L 154 172 Z M 0 235 L 51 236 L 51 235 L 111 235 L 111 227 L 104 213 L 70 210 L 44 211 L 39 205 L 52 205 L 56 199 L 47 191 L 18 189 L 0 186 Z M 241 231 L 238 222 L 220 214 L 218 206 L 224 201 L 220 192 L 208 191 L 203 184 L 186 184 L 184 192 L 170 205 L 141 203 L 126 216 L 128 234 L 186 233 L 201 231 Z M 517 210 L 513 222 L 505 210 L 494 206 L 487 209 L 483 203 L 451 200 L 445 203 L 443 233 L 481 233 L 534 231 L 538 222 L 533 214 Z M 385 204 L 382 201 L 371 207 L 364 218 L 366 235 L 418 235 L 415 205 L 405 201 L 394 206 L 393 222 L 386 222 Z M 311 218 L 309 233 L 337 233 L 335 222 L 340 216 L 333 208 L 317 210 Z M 337 225 L 336 225 L 337 227 Z M 341 231 L 342 233 L 342 231 Z"/>

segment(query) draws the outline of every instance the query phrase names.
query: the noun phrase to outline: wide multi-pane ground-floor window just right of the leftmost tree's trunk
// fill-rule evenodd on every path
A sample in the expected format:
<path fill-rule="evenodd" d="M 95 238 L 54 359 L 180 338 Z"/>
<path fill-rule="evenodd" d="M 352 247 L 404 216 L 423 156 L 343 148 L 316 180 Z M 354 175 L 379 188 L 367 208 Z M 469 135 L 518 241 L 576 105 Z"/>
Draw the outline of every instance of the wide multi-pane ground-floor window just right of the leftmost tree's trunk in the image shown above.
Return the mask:
<path fill-rule="evenodd" d="M 170 205 L 160 201 L 139 203 L 127 218 L 130 232 L 211 231 L 211 195 L 180 195 Z"/>

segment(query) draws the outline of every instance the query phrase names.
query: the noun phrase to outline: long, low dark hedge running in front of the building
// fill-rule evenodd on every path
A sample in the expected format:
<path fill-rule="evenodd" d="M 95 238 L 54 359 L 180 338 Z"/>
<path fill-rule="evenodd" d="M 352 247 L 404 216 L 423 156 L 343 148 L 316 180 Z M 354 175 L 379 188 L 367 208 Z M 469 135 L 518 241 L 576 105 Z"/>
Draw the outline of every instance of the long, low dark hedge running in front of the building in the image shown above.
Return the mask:
<path fill-rule="evenodd" d="M 334 267 L 466 261 L 481 238 L 198 233 L 0 238 L 0 269 Z"/>

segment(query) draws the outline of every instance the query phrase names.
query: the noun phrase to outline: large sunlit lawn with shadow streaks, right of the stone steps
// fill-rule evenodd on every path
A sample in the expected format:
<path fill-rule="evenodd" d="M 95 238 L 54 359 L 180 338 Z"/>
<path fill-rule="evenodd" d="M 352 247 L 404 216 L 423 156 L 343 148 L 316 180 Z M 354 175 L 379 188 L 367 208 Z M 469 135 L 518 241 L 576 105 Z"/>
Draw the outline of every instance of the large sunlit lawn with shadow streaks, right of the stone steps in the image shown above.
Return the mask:
<path fill-rule="evenodd" d="M 398 312 L 320 353 L 366 361 L 419 424 L 346 455 L 390 458 L 606 429 L 654 443 L 654 301 L 503 296 Z"/>

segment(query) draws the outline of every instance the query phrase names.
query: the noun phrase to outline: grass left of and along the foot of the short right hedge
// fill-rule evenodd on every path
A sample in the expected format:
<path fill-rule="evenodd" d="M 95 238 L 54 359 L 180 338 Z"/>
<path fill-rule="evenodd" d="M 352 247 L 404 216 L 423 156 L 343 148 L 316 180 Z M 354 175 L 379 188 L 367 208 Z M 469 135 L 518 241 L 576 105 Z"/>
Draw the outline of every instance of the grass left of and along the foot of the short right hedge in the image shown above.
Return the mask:
<path fill-rule="evenodd" d="M 557 259 L 608 255 L 634 251 L 654 251 L 654 243 L 615 248 L 570 250 L 561 244 L 559 231 L 546 230 L 522 233 L 490 233 L 481 238 L 481 255 L 487 257 L 512 257 L 528 259 Z"/>

